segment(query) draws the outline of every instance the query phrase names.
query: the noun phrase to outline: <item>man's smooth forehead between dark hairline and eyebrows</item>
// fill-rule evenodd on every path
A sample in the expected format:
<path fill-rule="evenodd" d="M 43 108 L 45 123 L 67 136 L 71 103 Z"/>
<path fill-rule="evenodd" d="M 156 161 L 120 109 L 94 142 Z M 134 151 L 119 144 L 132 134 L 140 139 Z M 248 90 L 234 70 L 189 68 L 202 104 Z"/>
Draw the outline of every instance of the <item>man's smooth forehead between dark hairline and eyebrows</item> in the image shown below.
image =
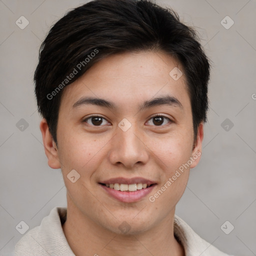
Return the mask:
<path fill-rule="evenodd" d="M 113 54 L 94 63 L 69 84 L 61 101 L 71 108 L 82 96 L 90 96 L 109 99 L 117 106 L 127 107 L 129 103 L 137 104 L 165 94 L 181 102 L 187 99 L 188 94 L 184 75 L 173 79 L 176 77 L 172 71 L 175 72 L 175 68 L 182 70 L 177 60 L 161 51 Z"/>

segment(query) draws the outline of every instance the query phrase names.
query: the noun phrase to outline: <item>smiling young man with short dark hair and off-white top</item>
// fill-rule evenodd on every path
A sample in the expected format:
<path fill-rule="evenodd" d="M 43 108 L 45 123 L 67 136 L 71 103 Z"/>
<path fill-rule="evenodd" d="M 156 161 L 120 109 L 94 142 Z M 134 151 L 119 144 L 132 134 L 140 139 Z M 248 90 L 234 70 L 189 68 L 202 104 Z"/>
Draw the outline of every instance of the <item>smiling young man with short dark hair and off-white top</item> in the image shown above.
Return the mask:
<path fill-rule="evenodd" d="M 58 20 L 34 81 L 67 208 L 15 255 L 227 255 L 175 215 L 201 155 L 209 71 L 194 30 L 150 1 L 90 1 Z"/>

